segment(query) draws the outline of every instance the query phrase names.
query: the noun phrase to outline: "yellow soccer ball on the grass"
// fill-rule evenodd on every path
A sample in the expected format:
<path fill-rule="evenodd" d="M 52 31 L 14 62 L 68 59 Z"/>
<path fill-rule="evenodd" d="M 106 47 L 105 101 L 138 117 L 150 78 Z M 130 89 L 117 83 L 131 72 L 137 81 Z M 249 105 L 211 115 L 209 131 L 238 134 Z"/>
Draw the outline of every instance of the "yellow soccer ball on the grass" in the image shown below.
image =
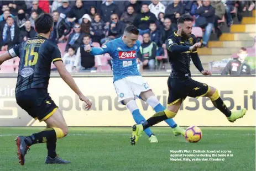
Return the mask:
<path fill-rule="evenodd" d="M 198 142 L 202 138 L 202 131 L 197 126 L 190 126 L 186 129 L 185 138 L 189 142 Z"/>

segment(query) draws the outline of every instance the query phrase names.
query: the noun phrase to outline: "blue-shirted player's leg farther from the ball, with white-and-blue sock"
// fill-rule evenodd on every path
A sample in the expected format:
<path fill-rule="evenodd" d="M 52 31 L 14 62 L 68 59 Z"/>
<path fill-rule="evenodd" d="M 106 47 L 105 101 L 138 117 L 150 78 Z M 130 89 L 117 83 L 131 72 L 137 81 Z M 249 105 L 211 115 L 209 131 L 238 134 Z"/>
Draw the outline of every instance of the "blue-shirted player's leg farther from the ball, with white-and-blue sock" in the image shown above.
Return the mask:
<path fill-rule="evenodd" d="M 136 103 L 136 101 L 132 98 L 124 99 L 123 104 L 126 104 L 127 109 L 132 113 L 133 119 L 137 124 L 142 124 L 145 122 L 145 118 L 140 114 L 139 107 Z M 151 143 L 158 142 L 158 139 L 156 136 L 151 132 L 150 129 L 145 129 L 144 132 L 148 135 L 149 141 Z"/>

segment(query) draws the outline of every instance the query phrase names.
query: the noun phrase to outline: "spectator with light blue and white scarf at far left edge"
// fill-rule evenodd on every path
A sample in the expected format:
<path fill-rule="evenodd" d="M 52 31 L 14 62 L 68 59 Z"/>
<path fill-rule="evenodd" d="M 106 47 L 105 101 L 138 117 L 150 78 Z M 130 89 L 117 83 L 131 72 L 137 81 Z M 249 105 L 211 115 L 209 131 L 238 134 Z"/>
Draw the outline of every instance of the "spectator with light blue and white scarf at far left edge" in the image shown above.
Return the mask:
<path fill-rule="evenodd" d="M 0 35 L 1 51 L 10 50 L 19 43 L 19 27 L 11 16 L 7 17 L 6 23 L 1 23 Z"/>

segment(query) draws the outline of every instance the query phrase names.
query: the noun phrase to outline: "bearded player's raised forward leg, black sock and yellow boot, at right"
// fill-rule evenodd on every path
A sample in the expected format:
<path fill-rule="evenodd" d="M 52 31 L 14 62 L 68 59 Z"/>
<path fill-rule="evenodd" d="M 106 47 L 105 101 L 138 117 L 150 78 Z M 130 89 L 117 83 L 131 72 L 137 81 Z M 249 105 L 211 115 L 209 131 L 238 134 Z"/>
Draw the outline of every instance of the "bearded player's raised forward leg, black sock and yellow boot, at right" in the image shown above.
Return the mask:
<path fill-rule="evenodd" d="M 246 113 L 246 109 L 241 109 L 238 111 L 230 111 L 227 106 L 224 104 L 220 95 L 218 94 L 218 90 L 216 88 L 210 87 L 210 91 L 205 95 L 210 98 L 213 105 L 220 110 L 224 115 L 227 116 L 229 122 L 234 122 L 237 119 L 243 117 Z"/>

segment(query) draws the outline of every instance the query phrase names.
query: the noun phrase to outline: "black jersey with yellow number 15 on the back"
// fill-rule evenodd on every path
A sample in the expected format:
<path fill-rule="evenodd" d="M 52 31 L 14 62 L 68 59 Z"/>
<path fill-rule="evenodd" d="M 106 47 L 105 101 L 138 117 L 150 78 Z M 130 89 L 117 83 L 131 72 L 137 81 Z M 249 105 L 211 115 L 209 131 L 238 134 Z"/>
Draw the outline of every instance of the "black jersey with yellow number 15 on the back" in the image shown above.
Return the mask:
<path fill-rule="evenodd" d="M 58 46 L 40 34 L 13 47 L 9 54 L 20 58 L 15 93 L 31 88 L 47 89 L 51 62 L 62 61 Z"/>

